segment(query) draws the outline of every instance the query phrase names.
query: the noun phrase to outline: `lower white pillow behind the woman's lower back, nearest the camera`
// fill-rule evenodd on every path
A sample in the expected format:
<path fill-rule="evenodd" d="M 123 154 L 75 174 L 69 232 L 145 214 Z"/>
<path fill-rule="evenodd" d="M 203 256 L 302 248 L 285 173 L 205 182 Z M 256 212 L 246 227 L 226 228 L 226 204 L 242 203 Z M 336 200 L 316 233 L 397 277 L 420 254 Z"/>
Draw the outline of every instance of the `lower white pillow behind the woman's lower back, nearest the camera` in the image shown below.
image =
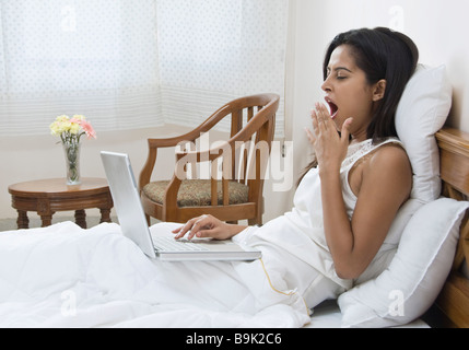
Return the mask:
<path fill-rule="evenodd" d="M 450 271 L 468 208 L 467 201 L 441 198 L 419 209 L 389 267 L 339 296 L 342 326 L 391 327 L 422 316 Z"/>

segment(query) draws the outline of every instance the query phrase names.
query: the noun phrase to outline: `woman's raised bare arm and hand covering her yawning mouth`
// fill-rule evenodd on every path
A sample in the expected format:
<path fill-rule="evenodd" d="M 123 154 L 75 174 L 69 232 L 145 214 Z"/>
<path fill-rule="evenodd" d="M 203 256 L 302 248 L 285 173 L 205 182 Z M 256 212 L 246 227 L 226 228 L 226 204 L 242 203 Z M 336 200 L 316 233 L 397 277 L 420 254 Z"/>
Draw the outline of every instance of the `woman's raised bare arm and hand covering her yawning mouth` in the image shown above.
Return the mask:
<path fill-rule="evenodd" d="M 362 164 L 357 202 L 350 220 L 343 202 L 340 165 L 347 155 L 352 119 L 343 124 L 339 136 L 327 109 L 318 110 L 312 115 L 314 133 L 308 131 L 308 138 L 319 163 L 326 241 L 338 276 L 354 279 L 373 260 L 397 211 L 409 197 L 411 166 L 401 148 L 378 149 Z"/>

